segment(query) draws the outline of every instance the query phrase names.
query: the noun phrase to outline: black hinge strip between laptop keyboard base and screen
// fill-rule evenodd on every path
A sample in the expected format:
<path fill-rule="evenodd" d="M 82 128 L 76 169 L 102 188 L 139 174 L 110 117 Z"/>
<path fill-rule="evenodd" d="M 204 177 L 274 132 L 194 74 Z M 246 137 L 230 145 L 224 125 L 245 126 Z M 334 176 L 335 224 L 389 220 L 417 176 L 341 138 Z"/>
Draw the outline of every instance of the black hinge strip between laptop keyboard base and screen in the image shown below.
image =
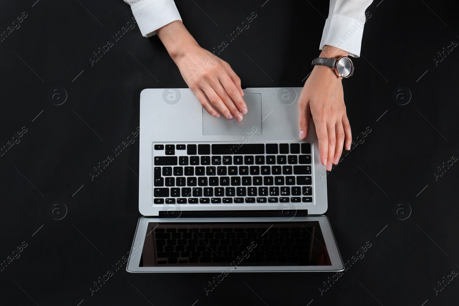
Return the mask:
<path fill-rule="evenodd" d="M 160 218 L 170 218 L 168 211 L 159 211 Z M 175 216 L 174 216 L 175 217 Z M 253 210 L 253 211 L 182 211 L 180 218 L 241 218 L 241 217 L 308 217 L 308 210 Z"/>

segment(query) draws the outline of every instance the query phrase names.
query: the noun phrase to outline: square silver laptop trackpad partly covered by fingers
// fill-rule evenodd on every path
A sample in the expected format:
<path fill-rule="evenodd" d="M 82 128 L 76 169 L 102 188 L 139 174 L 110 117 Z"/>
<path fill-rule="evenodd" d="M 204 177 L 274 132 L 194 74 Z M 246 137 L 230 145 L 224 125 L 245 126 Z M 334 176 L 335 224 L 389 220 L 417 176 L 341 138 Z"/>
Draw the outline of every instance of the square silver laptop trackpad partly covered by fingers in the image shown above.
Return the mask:
<path fill-rule="evenodd" d="M 220 115 L 216 118 L 202 109 L 202 135 L 253 135 L 262 134 L 261 94 L 245 94 L 243 97 L 247 105 L 247 113 L 242 121 L 234 117 L 227 119 Z"/>

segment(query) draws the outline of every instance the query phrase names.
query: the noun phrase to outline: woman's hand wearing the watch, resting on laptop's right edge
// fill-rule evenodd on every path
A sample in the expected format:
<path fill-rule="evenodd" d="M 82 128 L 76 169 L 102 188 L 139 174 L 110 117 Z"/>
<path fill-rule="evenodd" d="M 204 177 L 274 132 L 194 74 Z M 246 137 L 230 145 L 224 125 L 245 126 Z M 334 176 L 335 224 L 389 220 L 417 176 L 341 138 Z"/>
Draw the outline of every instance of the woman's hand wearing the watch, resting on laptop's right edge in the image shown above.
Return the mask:
<path fill-rule="evenodd" d="M 324 46 L 319 57 L 338 58 L 347 52 Z M 327 66 L 316 65 L 306 80 L 300 100 L 300 139 L 308 136 L 309 119 L 313 120 L 319 139 L 320 161 L 330 171 L 342 153 L 351 149 L 351 126 L 346 115 L 341 79 Z M 311 118 L 312 115 L 312 118 Z"/>

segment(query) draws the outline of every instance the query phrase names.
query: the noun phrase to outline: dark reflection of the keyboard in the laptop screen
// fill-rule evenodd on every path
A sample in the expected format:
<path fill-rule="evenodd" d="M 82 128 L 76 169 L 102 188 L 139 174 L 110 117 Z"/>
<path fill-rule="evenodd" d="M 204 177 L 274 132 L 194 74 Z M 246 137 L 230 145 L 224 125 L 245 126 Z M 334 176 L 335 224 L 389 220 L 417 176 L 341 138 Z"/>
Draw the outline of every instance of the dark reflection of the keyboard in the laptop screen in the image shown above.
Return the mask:
<path fill-rule="evenodd" d="M 241 251 L 250 257 L 245 262 L 308 262 L 311 257 L 314 227 L 301 224 L 186 225 L 154 229 L 155 263 L 193 264 L 232 262 Z M 288 226 L 288 225 L 287 225 Z"/>

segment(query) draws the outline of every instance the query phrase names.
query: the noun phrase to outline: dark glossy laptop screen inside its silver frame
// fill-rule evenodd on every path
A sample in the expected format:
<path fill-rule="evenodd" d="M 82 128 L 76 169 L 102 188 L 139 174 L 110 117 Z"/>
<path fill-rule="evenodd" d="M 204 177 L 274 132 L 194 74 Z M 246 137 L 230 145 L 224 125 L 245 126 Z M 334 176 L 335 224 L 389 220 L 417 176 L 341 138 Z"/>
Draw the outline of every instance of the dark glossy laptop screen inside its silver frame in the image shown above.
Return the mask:
<path fill-rule="evenodd" d="M 319 221 L 148 223 L 140 267 L 331 266 Z"/>

